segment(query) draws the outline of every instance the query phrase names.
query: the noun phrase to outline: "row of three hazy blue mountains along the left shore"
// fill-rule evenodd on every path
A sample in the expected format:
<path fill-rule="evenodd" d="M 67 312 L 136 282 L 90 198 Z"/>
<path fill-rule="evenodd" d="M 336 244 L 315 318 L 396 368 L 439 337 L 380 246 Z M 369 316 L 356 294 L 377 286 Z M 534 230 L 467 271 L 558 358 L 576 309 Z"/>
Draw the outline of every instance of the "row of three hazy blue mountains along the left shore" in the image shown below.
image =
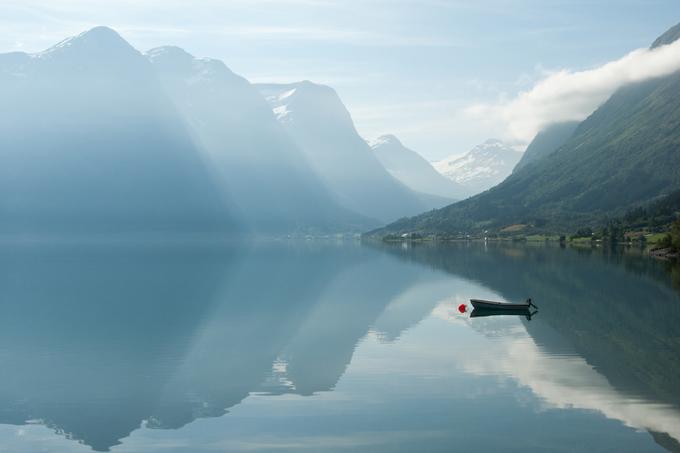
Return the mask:
<path fill-rule="evenodd" d="M 3 234 L 359 232 L 452 201 L 393 177 L 331 88 L 106 27 L 1 54 L 0 98 Z"/>

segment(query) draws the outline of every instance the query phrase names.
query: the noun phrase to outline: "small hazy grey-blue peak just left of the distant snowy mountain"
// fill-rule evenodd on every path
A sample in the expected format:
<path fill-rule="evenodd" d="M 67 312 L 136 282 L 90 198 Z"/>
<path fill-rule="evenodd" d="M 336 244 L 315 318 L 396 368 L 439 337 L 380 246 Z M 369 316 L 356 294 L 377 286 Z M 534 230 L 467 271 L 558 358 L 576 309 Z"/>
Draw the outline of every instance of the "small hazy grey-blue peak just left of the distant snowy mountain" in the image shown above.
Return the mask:
<path fill-rule="evenodd" d="M 394 135 L 383 135 L 369 143 L 387 171 L 417 192 L 444 198 L 464 198 L 467 191 L 442 176 L 420 154 L 406 148 Z"/>

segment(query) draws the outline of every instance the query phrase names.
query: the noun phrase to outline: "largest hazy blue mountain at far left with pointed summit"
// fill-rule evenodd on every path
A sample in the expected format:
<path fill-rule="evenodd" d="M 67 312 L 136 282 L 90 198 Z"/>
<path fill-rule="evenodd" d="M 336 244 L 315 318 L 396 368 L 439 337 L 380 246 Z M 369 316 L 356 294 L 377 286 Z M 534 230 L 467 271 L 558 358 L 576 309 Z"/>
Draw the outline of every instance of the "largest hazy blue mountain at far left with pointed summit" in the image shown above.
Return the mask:
<path fill-rule="evenodd" d="M 0 231 L 233 232 L 151 65 L 97 27 L 0 56 Z"/>

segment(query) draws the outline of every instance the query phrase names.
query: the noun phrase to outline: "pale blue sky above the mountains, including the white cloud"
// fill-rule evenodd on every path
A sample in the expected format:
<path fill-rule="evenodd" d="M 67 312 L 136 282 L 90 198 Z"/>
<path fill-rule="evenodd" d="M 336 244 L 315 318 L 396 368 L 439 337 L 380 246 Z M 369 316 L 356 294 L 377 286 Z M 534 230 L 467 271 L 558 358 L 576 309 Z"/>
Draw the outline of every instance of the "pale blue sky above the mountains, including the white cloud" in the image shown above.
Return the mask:
<path fill-rule="evenodd" d="M 331 85 L 364 138 L 395 134 L 435 161 L 488 138 L 522 148 L 680 69 L 680 47 L 636 51 L 677 22 L 677 0 L 0 0 L 0 52 L 106 25 L 252 82 Z"/>

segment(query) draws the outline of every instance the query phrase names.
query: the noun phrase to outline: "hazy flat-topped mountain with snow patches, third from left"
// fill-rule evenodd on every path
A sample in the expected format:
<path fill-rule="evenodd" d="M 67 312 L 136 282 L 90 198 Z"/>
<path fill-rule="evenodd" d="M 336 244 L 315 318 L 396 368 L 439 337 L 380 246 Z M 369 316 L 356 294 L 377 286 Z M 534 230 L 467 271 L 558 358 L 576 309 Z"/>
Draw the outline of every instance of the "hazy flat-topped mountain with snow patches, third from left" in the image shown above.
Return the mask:
<path fill-rule="evenodd" d="M 346 208 L 385 222 L 446 204 L 411 191 L 383 168 L 332 88 L 308 81 L 257 87 Z"/>

